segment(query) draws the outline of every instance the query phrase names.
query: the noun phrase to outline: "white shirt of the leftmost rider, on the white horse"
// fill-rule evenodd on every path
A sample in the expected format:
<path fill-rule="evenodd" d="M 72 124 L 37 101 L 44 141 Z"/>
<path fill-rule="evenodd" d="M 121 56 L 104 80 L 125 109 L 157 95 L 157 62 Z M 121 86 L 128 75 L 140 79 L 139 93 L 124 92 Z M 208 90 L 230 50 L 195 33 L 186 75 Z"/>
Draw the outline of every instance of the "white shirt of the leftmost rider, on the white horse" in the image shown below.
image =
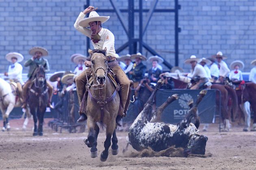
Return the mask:
<path fill-rule="evenodd" d="M 8 68 L 8 77 L 10 79 L 17 79 L 23 85 L 24 82 L 22 80 L 22 69 L 22 65 L 18 62 L 11 64 Z"/>

